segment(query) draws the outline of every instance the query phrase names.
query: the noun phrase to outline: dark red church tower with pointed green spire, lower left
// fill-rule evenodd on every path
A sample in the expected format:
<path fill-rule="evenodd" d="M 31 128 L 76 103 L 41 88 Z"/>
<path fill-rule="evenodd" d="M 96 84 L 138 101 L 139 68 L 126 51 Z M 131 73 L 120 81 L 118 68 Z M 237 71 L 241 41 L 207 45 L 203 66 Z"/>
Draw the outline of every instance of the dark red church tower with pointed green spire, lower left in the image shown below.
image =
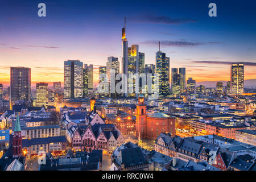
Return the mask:
<path fill-rule="evenodd" d="M 19 123 L 19 114 L 17 113 L 13 131 L 13 158 L 18 158 L 20 155 L 22 155 L 22 135 Z"/>

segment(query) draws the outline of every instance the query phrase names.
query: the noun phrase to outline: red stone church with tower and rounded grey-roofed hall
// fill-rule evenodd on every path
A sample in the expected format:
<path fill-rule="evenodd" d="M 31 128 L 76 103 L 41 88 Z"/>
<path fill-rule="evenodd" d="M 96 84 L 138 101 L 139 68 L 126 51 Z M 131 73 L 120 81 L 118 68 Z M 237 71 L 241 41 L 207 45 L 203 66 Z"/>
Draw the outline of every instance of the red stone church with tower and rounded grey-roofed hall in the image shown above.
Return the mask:
<path fill-rule="evenodd" d="M 156 139 L 160 133 L 175 135 L 175 117 L 155 112 L 146 113 L 144 96 L 139 94 L 136 110 L 136 135 L 140 138 Z"/>

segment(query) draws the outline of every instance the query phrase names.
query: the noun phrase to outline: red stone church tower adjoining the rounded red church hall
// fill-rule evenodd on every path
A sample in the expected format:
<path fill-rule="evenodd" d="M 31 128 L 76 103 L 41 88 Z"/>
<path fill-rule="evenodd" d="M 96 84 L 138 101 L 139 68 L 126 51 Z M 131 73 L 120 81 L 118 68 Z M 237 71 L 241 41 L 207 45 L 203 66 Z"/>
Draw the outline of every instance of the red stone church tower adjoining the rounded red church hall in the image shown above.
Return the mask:
<path fill-rule="evenodd" d="M 143 94 L 139 94 L 138 104 L 136 105 L 136 135 L 140 138 L 147 136 L 147 106 L 144 104 Z"/>

